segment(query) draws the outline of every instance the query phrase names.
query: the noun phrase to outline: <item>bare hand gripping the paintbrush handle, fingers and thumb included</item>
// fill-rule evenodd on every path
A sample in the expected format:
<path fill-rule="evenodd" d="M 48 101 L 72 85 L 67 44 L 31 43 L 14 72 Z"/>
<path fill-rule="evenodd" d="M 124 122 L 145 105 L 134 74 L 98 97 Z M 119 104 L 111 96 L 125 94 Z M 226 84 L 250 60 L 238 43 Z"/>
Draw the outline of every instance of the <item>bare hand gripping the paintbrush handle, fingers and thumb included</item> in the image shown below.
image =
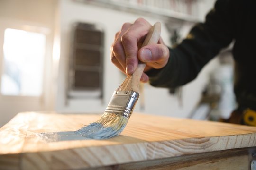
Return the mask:
<path fill-rule="evenodd" d="M 111 46 L 111 61 L 125 74 L 133 74 L 139 60 L 146 63 L 144 72 L 152 68 L 163 68 L 167 64 L 169 49 L 161 38 L 158 44 L 140 48 L 151 27 L 145 19 L 138 18 L 133 24 L 123 24 L 116 34 Z M 145 73 L 142 74 L 141 81 L 148 81 Z"/>

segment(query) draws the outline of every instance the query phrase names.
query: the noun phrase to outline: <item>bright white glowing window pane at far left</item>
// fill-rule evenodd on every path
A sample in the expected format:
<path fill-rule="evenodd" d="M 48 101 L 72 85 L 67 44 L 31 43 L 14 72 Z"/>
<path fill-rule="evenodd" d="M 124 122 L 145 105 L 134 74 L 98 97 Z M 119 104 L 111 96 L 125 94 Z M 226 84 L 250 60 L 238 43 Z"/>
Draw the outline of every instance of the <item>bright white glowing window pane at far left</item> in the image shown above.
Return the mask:
<path fill-rule="evenodd" d="M 45 43 L 45 34 L 9 28 L 5 30 L 1 76 L 3 95 L 41 95 Z"/>

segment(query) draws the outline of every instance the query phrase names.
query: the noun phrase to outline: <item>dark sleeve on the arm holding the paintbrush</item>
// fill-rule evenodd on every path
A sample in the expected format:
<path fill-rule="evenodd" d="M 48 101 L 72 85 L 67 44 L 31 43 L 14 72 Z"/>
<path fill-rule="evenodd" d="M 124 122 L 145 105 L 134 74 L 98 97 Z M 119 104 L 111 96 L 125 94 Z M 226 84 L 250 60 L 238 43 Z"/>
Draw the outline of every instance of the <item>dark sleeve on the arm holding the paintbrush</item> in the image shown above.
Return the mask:
<path fill-rule="evenodd" d="M 232 0 L 217 0 L 204 23 L 195 25 L 187 38 L 170 50 L 167 65 L 146 74 L 157 87 L 177 87 L 196 78 L 204 65 L 233 39 Z"/>

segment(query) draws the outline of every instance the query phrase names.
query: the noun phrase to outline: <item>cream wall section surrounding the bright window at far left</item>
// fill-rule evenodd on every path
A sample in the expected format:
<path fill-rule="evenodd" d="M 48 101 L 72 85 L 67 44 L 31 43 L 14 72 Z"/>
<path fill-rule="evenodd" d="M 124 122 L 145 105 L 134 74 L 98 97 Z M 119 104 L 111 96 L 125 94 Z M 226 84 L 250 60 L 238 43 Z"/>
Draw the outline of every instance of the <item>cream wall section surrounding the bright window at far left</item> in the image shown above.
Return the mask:
<path fill-rule="evenodd" d="M 46 58 L 43 95 L 40 98 L 0 94 L 0 127 L 21 111 L 53 110 L 51 56 L 54 24 L 54 0 L 0 0 L 0 76 L 3 66 L 3 40 L 6 28 L 45 30 Z M 40 31 L 40 30 L 39 30 Z M 0 79 L 1 80 L 1 79 Z M 33 81 L 33 80 L 31 80 Z"/>

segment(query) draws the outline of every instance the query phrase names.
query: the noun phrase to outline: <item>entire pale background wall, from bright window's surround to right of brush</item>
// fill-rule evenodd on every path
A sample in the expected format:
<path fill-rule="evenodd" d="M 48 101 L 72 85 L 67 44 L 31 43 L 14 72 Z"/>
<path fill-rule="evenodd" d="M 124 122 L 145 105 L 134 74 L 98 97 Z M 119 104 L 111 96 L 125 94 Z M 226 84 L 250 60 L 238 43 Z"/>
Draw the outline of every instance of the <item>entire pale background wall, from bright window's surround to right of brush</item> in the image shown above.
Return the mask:
<path fill-rule="evenodd" d="M 199 0 L 199 17 L 203 20 L 205 13 L 211 8 L 214 0 Z M 0 127 L 20 111 L 38 110 L 58 110 L 62 112 L 99 112 L 102 113 L 110 97 L 125 76 L 110 62 L 110 46 L 114 40 L 114 35 L 119 31 L 124 22 L 133 22 L 137 17 L 144 17 L 136 14 L 118 12 L 106 8 L 88 6 L 76 3 L 73 0 L 0 0 L 0 27 L 6 25 L 13 26 L 38 26 L 50 30 L 47 35 L 47 54 L 44 85 L 44 97 L 39 101 L 27 99 L 30 109 L 27 109 L 27 102 L 17 100 L 17 98 L 6 98 L 0 96 Z M 152 24 L 158 19 L 145 17 Z M 105 29 L 105 56 L 104 56 L 104 99 L 101 100 L 65 100 L 65 73 L 69 53 L 69 34 L 71 24 L 76 21 L 91 22 L 101 24 Z M 163 20 L 162 37 L 169 45 L 168 32 Z M 181 32 L 186 34 L 188 29 Z M 55 40 L 55 56 L 52 63 L 52 46 Z M 60 43 L 60 44 L 59 44 Z M 3 45 L 3 34 L 0 34 L 0 46 Z M 61 58 L 58 63 L 58 47 L 61 45 Z M 2 66 L 2 50 L 0 50 L 0 66 Z M 59 65 L 58 65 L 59 64 Z M 145 85 L 144 98 L 145 109 L 140 108 L 142 96 L 139 99 L 135 111 L 148 114 L 161 114 L 174 117 L 187 117 L 200 99 L 202 88 L 207 82 L 208 72 L 218 65 L 217 60 L 212 61 L 204 68 L 197 80 L 183 87 L 182 104 L 179 105 L 176 96 L 170 95 L 168 90 L 154 88 Z M 0 69 L 2 69 L 0 67 Z M 58 71 L 58 74 L 57 74 Z M 0 70 L 1 73 L 1 70 Z M 56 88 L 58 84 L 58 88 Z M 55 98 L 55 92 L 58 93 Z M 142 94 L 142 93 L 141 93 Z M 38 106 L 38 107 L 37 107 Z"/>

